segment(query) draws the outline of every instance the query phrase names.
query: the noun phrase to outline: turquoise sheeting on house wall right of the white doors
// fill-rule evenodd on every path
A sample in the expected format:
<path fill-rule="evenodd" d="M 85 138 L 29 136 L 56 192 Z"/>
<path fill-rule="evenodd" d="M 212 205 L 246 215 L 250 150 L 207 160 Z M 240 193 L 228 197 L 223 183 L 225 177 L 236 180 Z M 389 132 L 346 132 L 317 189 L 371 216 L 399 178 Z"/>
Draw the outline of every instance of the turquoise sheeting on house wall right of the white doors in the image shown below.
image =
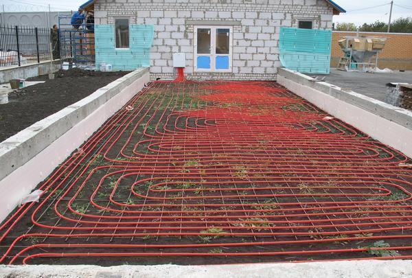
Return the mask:
<path fill-rule="evenodd" d="M 332 31 L 280 28 L 279 59 L 301 73 L 330 73 Z"/>

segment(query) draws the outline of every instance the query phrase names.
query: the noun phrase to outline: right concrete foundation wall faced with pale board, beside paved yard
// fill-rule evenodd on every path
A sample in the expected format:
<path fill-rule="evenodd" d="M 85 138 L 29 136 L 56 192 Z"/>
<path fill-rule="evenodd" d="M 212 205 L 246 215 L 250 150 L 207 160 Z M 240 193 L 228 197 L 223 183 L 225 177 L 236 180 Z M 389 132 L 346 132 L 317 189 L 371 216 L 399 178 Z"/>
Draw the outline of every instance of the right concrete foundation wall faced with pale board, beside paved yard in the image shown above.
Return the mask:
<path fill-rule="evenodd" d="M 289 69 L 279 69 L 277 75 L 277 82 L 293 93 L 412 158 L 412 111 L 310 80 Z"/>

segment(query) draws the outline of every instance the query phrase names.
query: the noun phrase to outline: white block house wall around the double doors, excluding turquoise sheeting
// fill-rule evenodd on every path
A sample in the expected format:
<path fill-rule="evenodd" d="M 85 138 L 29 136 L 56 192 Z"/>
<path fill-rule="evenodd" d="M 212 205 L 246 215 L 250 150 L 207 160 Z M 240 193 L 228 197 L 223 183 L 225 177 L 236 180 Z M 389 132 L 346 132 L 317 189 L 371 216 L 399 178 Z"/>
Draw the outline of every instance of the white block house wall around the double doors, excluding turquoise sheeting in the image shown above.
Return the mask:
<path fill-rule="evenodd" d="M 333 10 L 324 0 L 98 0 L 95 23 L 113 24 L 118 17 L 130 23 L 155 25 L 152 78 L 174 78 L 172 53 L 184 52 L 185 72 L 193 78 L 273 80 L 279 62 L 280 26 L 297 27 L 299 20 L 314 28 L 331 29 Z M 231 73 L 196 73 L 194 30 L 187 21 L 233 21 Z M 241 23 L 241 25 L 238 25 Z"/>

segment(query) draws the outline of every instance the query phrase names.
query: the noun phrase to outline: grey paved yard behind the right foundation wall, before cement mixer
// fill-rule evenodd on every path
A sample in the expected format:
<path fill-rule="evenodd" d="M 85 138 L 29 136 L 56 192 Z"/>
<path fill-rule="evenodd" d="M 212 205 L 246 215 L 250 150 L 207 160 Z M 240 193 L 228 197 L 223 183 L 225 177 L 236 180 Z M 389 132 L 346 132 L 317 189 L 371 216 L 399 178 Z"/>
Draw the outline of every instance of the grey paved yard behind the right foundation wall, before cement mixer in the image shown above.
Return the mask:
<path fill-rule="evenodd" d="M 356 71 L 339 71 L 330 69 L 330 74 L 320 75 L 313 74 L 309 76 L 325 76 L 325 82 L 340 86 L 342 88 L 350 88 L 356 93 L 366 95 L 385 102 L 388 95 L 387 83 L 390 82 L 412 82 L 412 71 L 393 71 L 393 73 L 363 73 Z"/>

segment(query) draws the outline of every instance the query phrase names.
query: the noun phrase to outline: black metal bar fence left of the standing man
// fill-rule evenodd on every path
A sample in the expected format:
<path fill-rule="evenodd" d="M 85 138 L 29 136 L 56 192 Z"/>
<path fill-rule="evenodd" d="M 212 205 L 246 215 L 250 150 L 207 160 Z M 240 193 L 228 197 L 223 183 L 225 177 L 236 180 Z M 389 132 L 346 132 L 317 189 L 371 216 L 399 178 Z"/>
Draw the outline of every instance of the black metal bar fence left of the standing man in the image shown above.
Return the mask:
<path fill-rule="evenodd" d="M 50 30 L 0 26 L 0 67 L 50 60 Z"/>

